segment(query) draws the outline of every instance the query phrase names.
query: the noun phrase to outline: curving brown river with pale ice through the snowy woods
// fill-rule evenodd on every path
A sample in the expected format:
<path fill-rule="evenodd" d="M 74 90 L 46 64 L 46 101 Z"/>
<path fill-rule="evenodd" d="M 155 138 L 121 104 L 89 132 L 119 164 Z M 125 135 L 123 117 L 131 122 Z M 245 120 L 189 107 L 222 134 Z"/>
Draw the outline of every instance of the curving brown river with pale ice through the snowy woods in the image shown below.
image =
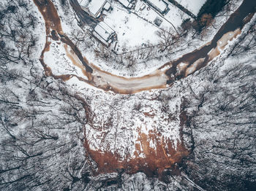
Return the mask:
<path fill-rule="evenodd" d="M 67 52 L 69 58 L 76 66 L 81 66 L 85 78 L 78 77 L 80 81 L 89 83 L 94 87 L 102 90 L 111 90 L 115 93 L 138 93 L 143 90 L 152 90 L 157 88 L 165 88 L 167 84 L 172 85 L 174 81 L 187 77 L 195 71 L 207 66 L 207 64 L 216 58 L 219 50 L 223 50 L 227 42 L 236 38 L 241 34 L 241 29 L 246 23 L 251 20 L 255 14 L 256 1 L 244 0 L 238 9 L 230 15 L 226 23 L 222 25 L 211 42 L 206 43 L 203 47 L 192 52 L 182 55 L 181 58 L 175 61 L 170 61 L 163 64 L 162 67 L 144 77 L 119 77 L 109 72 L 102 71 L 94 64 L 89 63 L 86 58 L 83 58 L 82 53 L 75 44 L 64 34 L 61 28 L 61 21 L 56 11 L 56 7 L 50 0 L 34 0 L 39 12 L 45 20 L 46 43 L 45 49 L 42 51 L 40 61 L 45 69 L 45 74 L 54 77 L 55 79 L 69 80 L 75 75 L 53 75 L 50 67 L 44 61 L 44 53 L 50 51 L 51 40 L 61 40 L 72 49 L 72 52 Z M 247 18 L 247 19 L 245 19 Z"/>

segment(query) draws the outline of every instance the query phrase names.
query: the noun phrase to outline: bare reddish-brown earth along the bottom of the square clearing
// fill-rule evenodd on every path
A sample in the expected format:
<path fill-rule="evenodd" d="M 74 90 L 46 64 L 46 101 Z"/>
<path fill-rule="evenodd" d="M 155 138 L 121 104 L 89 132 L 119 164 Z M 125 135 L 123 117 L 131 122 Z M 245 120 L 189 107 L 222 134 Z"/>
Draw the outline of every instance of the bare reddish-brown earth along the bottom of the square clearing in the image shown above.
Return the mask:
<path fill-rule="evenodd" d="M 121 159 L 118 153 L 105 152 L 102 150 L 90 149 L 89 141 L 84 142 L 86 155 L 97 163 L 97 171 L 94 175 L 124 171 L 127 174 L 143 172 L 147 176 L 157 176 L 163 179 L 165 169 L 178 174 L 176 163 L 180 163 L 189 152 L 184 144 L 178 142 L 176 149 L 170 140 L 164 138 L 157 132 L 150 132 L 148 135 L 138 132 L 140 139 L 135 144 L 135 153 L 127 153 L 127 157 Z M 155 148 L 150 147 L 150 141 L 154 142 Z M 140 156 L 140 155 L 143 155 Z"/>

